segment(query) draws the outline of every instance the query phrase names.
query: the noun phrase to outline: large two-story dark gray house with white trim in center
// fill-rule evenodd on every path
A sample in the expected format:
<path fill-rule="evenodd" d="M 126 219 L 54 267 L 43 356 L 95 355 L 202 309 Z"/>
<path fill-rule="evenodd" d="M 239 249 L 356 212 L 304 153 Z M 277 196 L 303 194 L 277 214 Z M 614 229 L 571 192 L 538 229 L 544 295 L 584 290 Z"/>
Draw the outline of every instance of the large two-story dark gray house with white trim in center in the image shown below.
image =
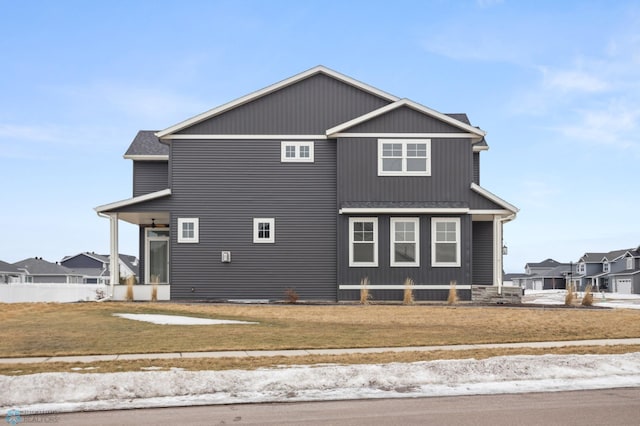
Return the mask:
<path fill-rule="evenodd" d="M 485 132 L 319 66 L 165 130 L 141 131 L 133 197 L 140 281 L 171 299 L 446 300 L 502 285 L 518 209 L 480 186 Z M 113 271 L 115 276 L 115 271 Z M 115 277 L 112 277 L 112 282 Z"/>

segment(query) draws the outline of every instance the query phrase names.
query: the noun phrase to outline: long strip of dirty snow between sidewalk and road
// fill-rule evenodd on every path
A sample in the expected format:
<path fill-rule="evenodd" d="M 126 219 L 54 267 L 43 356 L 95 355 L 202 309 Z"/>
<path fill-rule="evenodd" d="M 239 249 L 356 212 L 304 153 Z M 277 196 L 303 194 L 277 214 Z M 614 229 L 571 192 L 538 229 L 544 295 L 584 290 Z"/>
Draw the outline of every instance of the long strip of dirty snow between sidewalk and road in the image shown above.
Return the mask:
<path fill-rule="evenodd" d="M 2 412 L 553 392 L 640 386 L 640 353 L 504 356 L 254 371 L 0 376 Z"/>

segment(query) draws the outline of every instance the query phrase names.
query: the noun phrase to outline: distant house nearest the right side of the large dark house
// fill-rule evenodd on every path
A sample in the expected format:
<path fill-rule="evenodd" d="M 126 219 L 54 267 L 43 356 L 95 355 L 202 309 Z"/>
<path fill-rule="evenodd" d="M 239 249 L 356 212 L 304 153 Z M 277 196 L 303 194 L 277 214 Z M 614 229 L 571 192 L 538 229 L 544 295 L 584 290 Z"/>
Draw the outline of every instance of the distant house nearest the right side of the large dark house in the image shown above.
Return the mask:
<path fill-rule="evenodd" d="M 572 278 L 572 266 L 554 259 L 542 262 L 527 263 L 525 274 L 513 274 L 514 286 L 526 290 L 553 290 L 566 288 L 567 281 Z"/>

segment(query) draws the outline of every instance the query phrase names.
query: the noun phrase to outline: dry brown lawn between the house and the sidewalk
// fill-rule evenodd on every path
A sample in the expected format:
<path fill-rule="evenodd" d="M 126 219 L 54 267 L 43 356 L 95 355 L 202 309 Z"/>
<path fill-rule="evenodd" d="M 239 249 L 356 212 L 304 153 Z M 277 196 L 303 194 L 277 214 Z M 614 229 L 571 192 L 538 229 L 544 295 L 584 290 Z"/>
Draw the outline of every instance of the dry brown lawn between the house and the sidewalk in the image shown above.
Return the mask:
<path fill-rule="evenodd" d="M 157 325 L 157 313 L 256 321 Z M 348 348 L 640 337 L 640 310 L 470 305 L 1 304 L 0 357 Z M 625 324 L 620 327 L 619 324 Z"/>

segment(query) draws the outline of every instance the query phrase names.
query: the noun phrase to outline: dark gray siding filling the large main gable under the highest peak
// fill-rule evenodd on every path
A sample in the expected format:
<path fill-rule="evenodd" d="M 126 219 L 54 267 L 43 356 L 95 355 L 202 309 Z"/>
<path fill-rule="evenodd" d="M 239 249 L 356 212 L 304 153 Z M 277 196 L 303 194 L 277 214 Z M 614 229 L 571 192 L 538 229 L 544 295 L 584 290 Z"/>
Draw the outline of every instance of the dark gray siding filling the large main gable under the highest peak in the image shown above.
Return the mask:
<path fill-rule="evenodd" d="M 389 103 L 317 74 L 179 133 L 318 135 Z"/>

